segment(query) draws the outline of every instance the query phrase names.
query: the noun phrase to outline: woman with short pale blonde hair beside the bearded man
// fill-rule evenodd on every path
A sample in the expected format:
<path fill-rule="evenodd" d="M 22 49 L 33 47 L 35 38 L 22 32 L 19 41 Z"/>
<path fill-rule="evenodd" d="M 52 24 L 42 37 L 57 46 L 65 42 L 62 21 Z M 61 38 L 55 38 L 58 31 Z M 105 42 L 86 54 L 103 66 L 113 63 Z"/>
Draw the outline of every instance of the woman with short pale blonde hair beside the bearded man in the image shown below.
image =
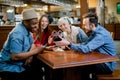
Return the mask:
<path fill-rule="evenodd" d="M 71 23 L 69 17 L 61 17 L 58 20 L 58 28 L 63 31 L 64 38 L 73 43 L 85 42 L 88 39 L 86 33 Z"/>

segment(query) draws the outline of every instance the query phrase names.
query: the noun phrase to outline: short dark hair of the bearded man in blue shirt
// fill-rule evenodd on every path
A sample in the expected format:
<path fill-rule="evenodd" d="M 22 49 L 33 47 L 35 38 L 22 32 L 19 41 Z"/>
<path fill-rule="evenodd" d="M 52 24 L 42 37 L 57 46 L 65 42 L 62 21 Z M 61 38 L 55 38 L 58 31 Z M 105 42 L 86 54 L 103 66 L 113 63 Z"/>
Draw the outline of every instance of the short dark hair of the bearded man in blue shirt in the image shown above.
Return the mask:
<path fill-rule="evenodd" d="M 97 27 L 98 17 L 95 13 L 87 13 L 83 15 L 83 18 L 89 18 L 89 22 L 95 24 L 95 26 Z"/>

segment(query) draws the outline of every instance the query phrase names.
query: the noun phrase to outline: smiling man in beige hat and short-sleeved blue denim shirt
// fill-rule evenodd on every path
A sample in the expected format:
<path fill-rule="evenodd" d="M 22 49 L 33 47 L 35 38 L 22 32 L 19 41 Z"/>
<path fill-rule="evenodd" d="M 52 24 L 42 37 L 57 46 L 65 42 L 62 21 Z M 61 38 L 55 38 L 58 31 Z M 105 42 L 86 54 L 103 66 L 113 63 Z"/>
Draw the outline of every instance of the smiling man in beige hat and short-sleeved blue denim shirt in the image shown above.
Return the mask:
<path fill-rule="evenodd" d="M 31 32 L 35 32 L 38 28 L 38 16 L 34 9 L 26 9 L 22 12 L 22 17 L 22 22 L 9 33 L 0 52 L 2 80 L 34 80 L 36 78 L 36 74 L 24 66 L 29 65 L 33 55 L 43 50 L 43 47 L 34 48 L 31 36 Z"/>

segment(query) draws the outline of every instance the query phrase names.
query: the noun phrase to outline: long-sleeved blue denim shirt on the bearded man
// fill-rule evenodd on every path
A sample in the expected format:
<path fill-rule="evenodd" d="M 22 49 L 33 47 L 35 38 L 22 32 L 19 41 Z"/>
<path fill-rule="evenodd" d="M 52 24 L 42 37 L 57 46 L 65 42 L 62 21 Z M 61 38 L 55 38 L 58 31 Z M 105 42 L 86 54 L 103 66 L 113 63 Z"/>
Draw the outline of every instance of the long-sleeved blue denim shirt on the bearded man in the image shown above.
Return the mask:
<path fill-rule="evenodd" d="M 88 40 L 83 44 L 71 43 L 71 48 L 75 51 L 89 53 L 92 51 L 100 52 L 101 54 L 108 54 L 116 56 L 116 49 L 114 41 L 105 28 L 98 25 L 96 29 L 89 36 Z M 111 71 L 114 70 L 116 62 L 105 63 Z"/>

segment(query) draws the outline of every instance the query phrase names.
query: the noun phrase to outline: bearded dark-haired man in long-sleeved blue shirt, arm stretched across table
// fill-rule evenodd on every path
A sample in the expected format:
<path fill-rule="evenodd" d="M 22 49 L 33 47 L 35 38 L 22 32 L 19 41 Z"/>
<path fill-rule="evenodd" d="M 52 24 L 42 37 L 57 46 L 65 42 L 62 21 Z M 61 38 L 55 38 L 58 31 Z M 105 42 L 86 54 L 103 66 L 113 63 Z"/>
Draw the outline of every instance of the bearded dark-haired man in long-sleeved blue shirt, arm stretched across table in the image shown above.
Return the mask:
<path fill-rule="evenodd" d="M 89 38 L 85 43 L 74 44 L 62 38 L 62 41 L 55 42 L 58 46 L 69 46 L 71 49 L 83 52 L 85 54 L 92 51 L 100 52 L 101 54 L 108 54 L 116 56 L 116 49 L 114 41 L 104 27 L 98 24 L 98 17 L 94 13 L 87 13 L 83 16 L 83 28 L 86 33 L 89 33 Z M 81 67 L 81 75 L 83 80 L 89 80 L 89 74 L 109 74 L 115 69 L 116 62 L 107 62 L 103 64 L 96 64 Z M 84 69 L 83 69 L 84 68 Z M 82 71 L 84 70 L 84 71 Z M 87 77 L 88 76 L 88 77 Z"/>

